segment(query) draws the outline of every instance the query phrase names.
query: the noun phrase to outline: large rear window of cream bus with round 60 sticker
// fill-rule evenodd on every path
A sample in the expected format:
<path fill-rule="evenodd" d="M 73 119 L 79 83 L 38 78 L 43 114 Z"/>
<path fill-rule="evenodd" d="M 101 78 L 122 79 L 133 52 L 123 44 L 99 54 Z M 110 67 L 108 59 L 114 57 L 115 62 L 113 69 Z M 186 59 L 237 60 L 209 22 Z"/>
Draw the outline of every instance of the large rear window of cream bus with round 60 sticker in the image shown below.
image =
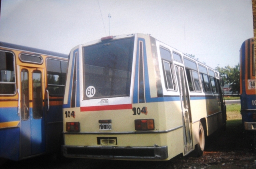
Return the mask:
<path fill-rule="evenodd" d="M 84 99 L 129 96 L 133 45 L 134 37 L 83 48 Z"/>

